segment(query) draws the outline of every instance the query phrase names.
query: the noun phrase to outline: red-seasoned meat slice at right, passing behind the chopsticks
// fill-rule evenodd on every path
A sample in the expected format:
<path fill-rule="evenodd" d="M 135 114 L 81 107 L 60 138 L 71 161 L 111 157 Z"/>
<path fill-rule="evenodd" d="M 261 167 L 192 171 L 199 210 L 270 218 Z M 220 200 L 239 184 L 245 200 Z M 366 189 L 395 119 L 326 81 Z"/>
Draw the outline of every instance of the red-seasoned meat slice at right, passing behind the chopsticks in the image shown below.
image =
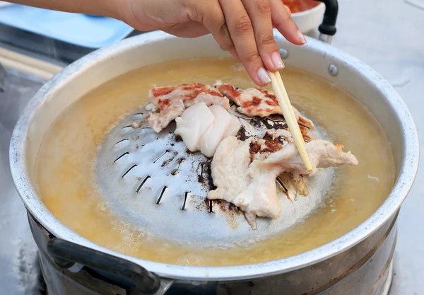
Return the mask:
<path fill-rule="evenodd" d="M 215 87 L 223 96 L 230 98 L 232 102 L 238 105 L 237 110 L 242 114 L 250 117 L 268 117 L 273 114 L 283 115 L 277 98 L 272 91 L 258 88 L 234 88 L 234 86 L 225 83 L 216 84 Z M 294 107 L 293 111 L 298 123 L 305 125 L 311 130 L 314 129 L 314 123 L 311 120 L 303 117 Z"/>

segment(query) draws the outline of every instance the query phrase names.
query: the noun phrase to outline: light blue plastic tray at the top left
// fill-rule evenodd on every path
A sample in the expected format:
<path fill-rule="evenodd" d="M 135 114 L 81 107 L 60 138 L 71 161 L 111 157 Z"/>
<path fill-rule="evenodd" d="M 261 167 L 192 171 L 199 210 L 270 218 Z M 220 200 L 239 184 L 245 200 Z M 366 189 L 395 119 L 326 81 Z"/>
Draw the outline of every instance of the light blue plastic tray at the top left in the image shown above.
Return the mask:
<path fill-rule="evenodd" d="M 113 18 L 50 11 L 18 4 L 0 8 L 0 23 L 88 48 L 110 45 L 134 30 Z"/>

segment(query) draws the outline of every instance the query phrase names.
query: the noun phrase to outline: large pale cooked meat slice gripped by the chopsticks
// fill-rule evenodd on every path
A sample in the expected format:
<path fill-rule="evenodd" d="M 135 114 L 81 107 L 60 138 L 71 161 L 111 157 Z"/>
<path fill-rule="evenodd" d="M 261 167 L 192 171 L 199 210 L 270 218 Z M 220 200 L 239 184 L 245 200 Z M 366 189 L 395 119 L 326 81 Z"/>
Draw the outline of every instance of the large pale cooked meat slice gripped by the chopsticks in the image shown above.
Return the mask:
<path fill-rule="evenodd" d="M 211 163 L 213 184 L 216 190 L 208 192 L 208 199 L 224 199 L 246 213 L 252 229 L 257 229 L 256 216 L 277 219 L 281 215 L 276 178 L 281 173 L 307 174 L 295 144 L 269 154 L 264 160 L 251 163 L 250 144 L 254 139 L 239 141 L 226 137 L 221 141 Z M 310 156 L 313 174 L 318 168 L 357 165 L 350 152 L 329 141 L 314 140 L 305 144 Z"/>

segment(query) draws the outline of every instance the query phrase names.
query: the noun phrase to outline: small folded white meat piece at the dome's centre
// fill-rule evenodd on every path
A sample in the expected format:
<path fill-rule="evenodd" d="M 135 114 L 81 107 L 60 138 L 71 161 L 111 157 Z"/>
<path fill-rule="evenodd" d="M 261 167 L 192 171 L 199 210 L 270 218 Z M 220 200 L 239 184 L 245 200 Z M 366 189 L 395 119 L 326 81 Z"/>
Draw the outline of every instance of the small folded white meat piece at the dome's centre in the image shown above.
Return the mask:
<path fill-rule="evenodd" d="M 224 137 L 237 134 L 240 120 L 220 105 L 207 107 L 206 103 L 196 103 L 175 119 L 175 134 L 184 141 L 189 151 L 201 151 L 212 157 Z"/>

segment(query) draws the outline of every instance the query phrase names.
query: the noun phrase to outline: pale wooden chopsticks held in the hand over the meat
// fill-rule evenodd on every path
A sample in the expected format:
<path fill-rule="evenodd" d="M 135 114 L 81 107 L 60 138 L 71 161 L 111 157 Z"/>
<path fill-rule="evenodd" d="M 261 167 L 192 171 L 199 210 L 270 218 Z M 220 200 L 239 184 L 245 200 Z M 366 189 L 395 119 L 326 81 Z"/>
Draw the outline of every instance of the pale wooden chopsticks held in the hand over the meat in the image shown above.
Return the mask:
<path fill-rule="evenodd" d="M 312 163 L 310 161 L 309 156 L 307 155 L 305 141 L 303 140 L 302 132 L 300 132 L 300 127 L 298 125 L 298 120 L 296 120 L 293 107 L 290 103 L 290 100 L 288 99 L 287 91 L 285 91 L 283 80 L 281 79 L 280 73 L 278 71 L 276 73 L 269 71 L 269 76 L 271 77 L 271 86 L 273 88 L 274 93 L 276 94 L 276 98 L 278 104 L 280 105 L 281 112 L 283 112 L 285 122 L 288 125 L 288 130 L 293 136 L 295 146 L 299 151 L 300 158 L 302 158 L 307 172 L 310 173 L 313 170 Z"/>

